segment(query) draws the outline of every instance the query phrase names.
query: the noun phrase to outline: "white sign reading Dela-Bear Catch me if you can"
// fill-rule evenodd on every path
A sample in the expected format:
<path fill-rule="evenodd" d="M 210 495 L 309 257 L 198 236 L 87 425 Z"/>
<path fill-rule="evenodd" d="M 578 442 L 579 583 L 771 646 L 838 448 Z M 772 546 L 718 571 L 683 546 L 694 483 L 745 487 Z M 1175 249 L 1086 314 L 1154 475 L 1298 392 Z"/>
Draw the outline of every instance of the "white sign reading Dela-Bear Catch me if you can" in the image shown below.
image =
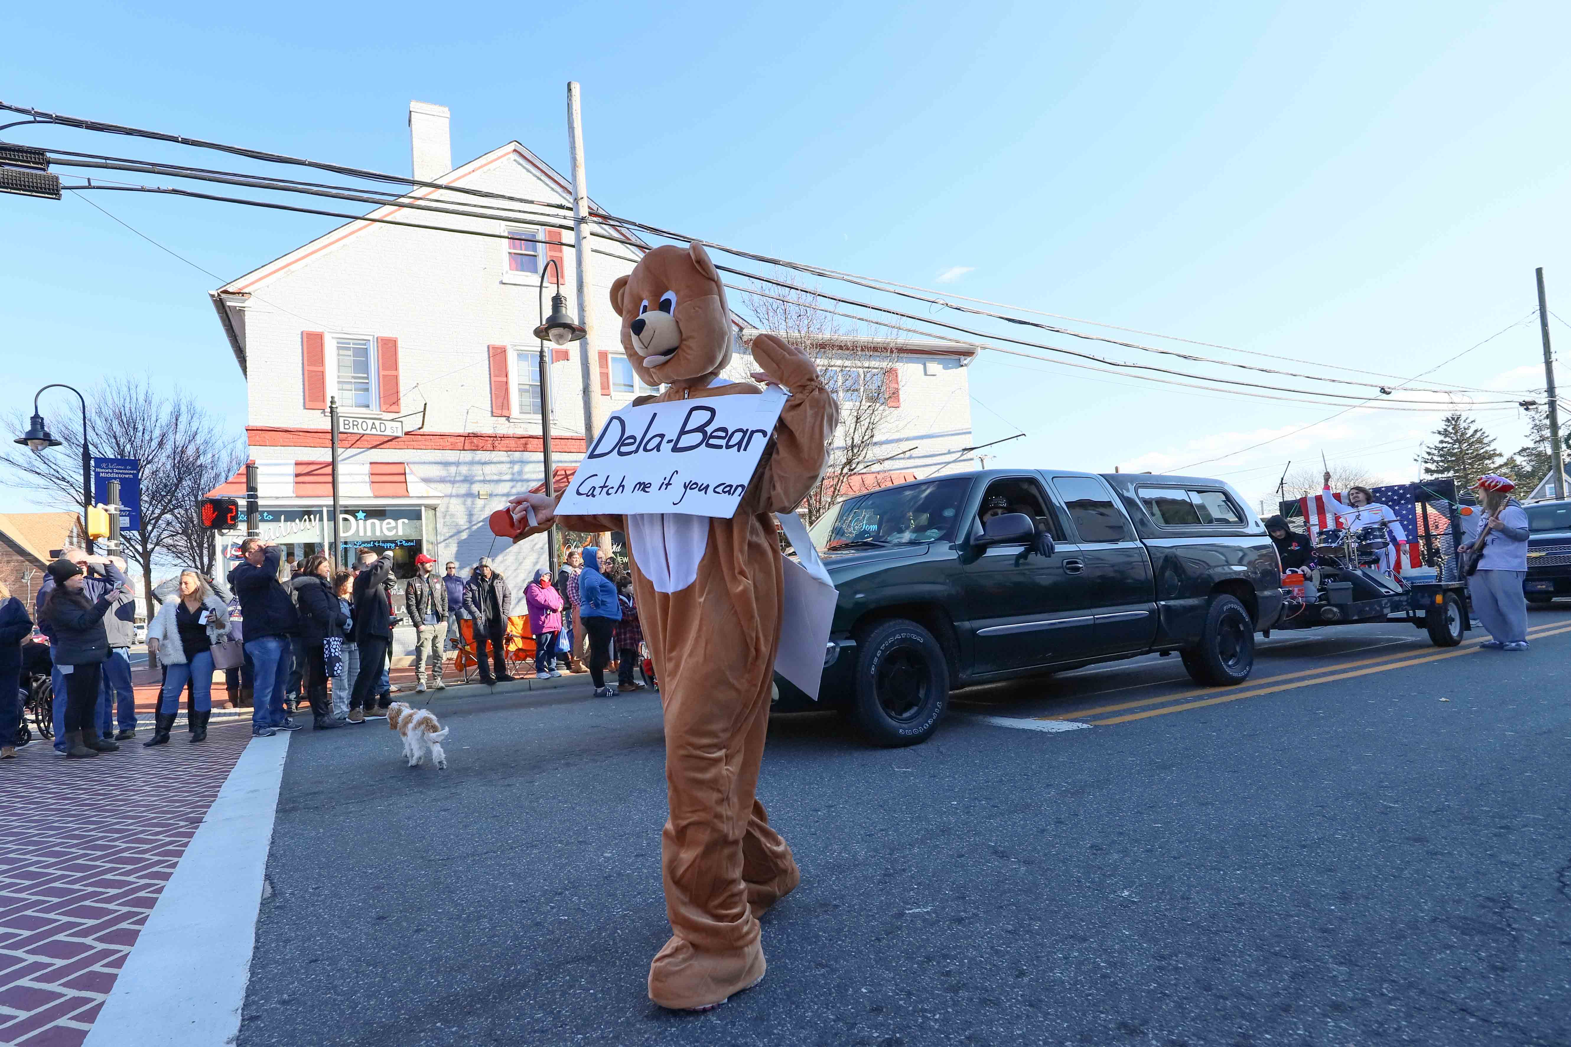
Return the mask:
<path fill-rule="evenodd" d="M 775 432 L 786 391 L 624 407 L 589 444 L 561 516 L 732 516 Z"/>

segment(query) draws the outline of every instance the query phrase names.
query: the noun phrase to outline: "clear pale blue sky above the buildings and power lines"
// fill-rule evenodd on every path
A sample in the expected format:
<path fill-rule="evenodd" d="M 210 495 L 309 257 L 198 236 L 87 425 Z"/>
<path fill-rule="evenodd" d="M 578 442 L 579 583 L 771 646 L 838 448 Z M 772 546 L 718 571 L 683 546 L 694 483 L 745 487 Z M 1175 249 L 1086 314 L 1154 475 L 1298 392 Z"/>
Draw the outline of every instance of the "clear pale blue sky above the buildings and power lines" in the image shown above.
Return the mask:
<path fill-rule="evenodd" d="M 518 138 L 566 170 L 572 78 L 602 204 L 767 254 L 922 286 L 963 270 L 943 286 L 1290 370 L 1419 374 L 1533 309 L 1536 265 L 1571 317 L 1568 5 L 341 6 L 13 11 L 25 46 L 0 99 L 385 171 L 408 168 L 423 99 L 451 107 L 456 162 Z M 5 137 L 250 166 L 49 127 Z M 223 279 L 333 224 L 93 199 Z M 206 297 L 218 281 L 69 195 L 0 198 L 0 407 L 143 372 L 244 425 Z M 1029 433 L 990 465 L 1161 471 L 1335 410 L 991 355 L 971 378 L 979 443 Z M 1541 385 L 1536 323 L 1431 378 Z M 1255 496 L 1324 452 L 1411 479 L 1437 418 L 1353 413 L 1196 471 Z M 1477 418 L 1519 444 L 1516 411 Z M 28 504 L 0 491 L 0 510 Z"/>

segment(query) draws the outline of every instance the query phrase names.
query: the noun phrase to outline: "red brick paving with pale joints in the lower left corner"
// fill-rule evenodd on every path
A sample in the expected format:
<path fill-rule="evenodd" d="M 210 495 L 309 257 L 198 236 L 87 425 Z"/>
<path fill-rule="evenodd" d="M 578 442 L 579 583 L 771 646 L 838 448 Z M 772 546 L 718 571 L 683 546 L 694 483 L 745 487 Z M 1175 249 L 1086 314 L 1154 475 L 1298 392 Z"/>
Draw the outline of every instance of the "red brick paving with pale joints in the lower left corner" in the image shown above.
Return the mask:
<path fill-rule="evenodd" d="M 82 1042 L 248 741 L 215 720 L 201 746 L 64 760 L 35 741 L 0 763 L 0 1044 Z"/>

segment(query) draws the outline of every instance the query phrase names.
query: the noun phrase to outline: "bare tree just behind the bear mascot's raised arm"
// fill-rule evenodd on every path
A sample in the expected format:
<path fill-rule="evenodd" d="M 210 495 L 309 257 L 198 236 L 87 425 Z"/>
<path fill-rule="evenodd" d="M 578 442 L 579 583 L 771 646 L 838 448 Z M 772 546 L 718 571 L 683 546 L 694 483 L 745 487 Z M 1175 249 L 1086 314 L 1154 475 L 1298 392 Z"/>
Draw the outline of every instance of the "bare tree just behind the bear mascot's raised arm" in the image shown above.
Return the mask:
<path fill-rule="evenodd" d="M 746 301 L 760 331 L 812 358 L 840 405 L 829 468 L 803 505 L 812 524 L 837 501 L 856 493 L 851 477 L 875 472 L 914 451 L 914 446 L 895 447 L 891 443 L 900 430 L 900 416 L 894 410 L 899 386 L 892 385 L 899 378 L 889 377 L 900 363 L 899 342 L 877 327 L 826 312 L 834 303 L 820 303 L 812 290 L 765 284 L 760 294 L 746 295 Z M 734 363 L 734 369 L 753 367 Z"/>

